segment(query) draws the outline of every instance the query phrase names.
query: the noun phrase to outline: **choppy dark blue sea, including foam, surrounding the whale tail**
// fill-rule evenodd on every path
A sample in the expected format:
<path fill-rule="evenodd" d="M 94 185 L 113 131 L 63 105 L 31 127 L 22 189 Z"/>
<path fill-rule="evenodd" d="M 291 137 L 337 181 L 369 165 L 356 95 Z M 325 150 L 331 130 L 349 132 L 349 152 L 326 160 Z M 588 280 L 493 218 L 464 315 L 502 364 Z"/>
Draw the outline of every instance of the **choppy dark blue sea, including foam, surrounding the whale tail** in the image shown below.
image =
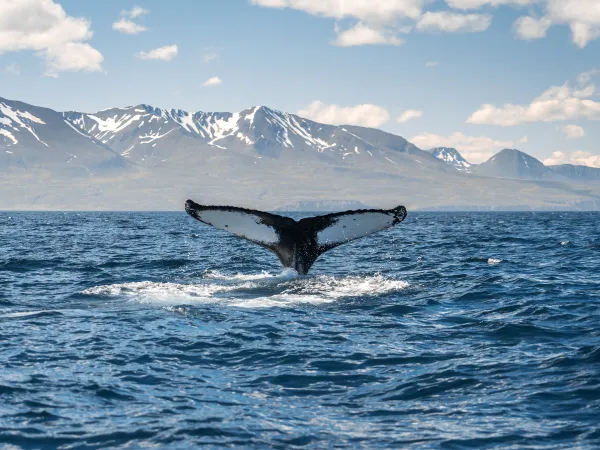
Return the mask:
<path fill-rule="evenodd" d="M 0 447 L 599 448 L 599 222 L 409 213 L 296 277 L 185 213 L 0 213 Z"/>

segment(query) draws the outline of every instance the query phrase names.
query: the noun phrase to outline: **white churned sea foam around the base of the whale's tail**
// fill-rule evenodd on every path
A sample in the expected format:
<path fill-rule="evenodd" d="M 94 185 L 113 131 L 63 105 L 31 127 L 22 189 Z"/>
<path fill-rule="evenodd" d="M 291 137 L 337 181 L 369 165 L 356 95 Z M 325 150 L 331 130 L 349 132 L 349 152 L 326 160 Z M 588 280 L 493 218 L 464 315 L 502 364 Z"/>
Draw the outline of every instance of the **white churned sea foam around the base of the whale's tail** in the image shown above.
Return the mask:
<path fill-rule="evenodd" d="M 279 274 L 225 275 L 209 272 L 195 284 L 142 281 L 97 286 L 83 294 L 125 297 L 141 303 L 223 303 L 244 308 L 324 304 L 350 297 L 372 297 L 399 292 L 409 284 L 380 274 L 300 277 L 293 270 Z"/>

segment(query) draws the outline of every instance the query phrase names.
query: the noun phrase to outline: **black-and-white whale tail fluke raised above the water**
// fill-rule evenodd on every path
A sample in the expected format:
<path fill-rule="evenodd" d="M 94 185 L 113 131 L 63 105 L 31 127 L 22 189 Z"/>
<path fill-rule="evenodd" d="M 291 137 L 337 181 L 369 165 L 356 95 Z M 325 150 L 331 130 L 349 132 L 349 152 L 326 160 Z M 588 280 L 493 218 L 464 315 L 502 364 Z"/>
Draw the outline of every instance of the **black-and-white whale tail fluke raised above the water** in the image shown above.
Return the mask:
<path fill-rule="evenodd" d="M 406 208 L 355 209 L 295 220 L 235 206 L 185 202 L 194 219 L 227 231 L 275 253 L 286 268 L 306 275 L 319 256 L 332 248 L 398 225 Z"/>

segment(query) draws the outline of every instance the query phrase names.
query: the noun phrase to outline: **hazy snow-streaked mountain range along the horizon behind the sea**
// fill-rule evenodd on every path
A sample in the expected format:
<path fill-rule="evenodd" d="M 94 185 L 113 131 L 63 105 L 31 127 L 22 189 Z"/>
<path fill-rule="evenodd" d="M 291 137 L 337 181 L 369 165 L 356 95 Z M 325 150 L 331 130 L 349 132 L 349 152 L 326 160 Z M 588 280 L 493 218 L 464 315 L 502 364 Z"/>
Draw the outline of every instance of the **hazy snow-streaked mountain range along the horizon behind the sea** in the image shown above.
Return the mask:
<path fill-rule="evenodd" d="M 0 98 L 0 209 L 600 209 L 600 169 L 514 149 L 476 165 L 373 128 L 254 106 L 58 112 Z"/>

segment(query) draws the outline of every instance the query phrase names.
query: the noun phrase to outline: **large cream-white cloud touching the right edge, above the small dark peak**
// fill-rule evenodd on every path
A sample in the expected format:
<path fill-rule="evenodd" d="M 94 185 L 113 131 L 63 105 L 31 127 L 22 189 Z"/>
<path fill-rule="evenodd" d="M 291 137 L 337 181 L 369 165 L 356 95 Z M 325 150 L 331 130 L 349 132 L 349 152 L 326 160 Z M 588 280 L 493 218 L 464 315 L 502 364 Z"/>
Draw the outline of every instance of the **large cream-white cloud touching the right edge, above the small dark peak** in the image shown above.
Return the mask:
<path fill-rule="evenodd" d="M 528 105 L 482 105 L 467 119 L 467 123 L 513 126 L 532 122 L 600 120 L 600 102 L 590 99 L 596 89 L 590 83 L 593 74 L 595 71 L 580 75 L 578 87 L 571 87 L 568 82 L 562 86 L 553 86 Z"/>

